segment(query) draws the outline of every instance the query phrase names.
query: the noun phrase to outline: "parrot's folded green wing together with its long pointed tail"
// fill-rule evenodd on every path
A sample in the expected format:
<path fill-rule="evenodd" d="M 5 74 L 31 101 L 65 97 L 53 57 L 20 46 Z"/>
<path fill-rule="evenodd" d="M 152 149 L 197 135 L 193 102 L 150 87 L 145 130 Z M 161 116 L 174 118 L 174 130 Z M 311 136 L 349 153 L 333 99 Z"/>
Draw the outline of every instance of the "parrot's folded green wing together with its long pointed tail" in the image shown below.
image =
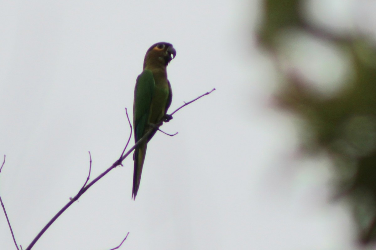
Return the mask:
<path fill-rule="evenodd" d="M 148 128 L 148 118 L 150 113 L 150 105 L 155 89 L 155 81 L 153 73 L 150 70 L 144 70 L 136 80 L 135 96 L 133 103 L 133 129 L 135 134 L 135 142 L 143 137 Z M 138 187 L 141 180 L 141 172 L 144 165 L 146 154 L 147 141 L 140 144 L 135 149 L 133 158 L 134 171 L 133 171 L 133 189 L 132 198 L 135 199 Z"/>

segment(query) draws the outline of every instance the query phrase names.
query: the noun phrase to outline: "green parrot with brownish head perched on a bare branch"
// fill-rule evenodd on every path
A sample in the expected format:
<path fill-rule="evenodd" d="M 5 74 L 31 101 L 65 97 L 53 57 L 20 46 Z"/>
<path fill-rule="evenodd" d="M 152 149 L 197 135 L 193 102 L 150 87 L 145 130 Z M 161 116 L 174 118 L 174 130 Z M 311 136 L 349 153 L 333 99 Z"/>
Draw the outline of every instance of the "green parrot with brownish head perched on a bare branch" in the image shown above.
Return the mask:
<path fill-rule="evenodd" d="M 159 42 L 152 45 L 146 52 L 143 72 L 137 77 L 133 102 L 133 130 L 135 142 L 163 118 L 169 120 L 167 109 L 172 100 L 171 85 L 167 79 L 167 65 L 176 56 L 176 50 L 171 43 Z M 136 199 L 141 181 L 147 142 L 135 148 L 133 154 L 133 189 L 132 198 Z"/>

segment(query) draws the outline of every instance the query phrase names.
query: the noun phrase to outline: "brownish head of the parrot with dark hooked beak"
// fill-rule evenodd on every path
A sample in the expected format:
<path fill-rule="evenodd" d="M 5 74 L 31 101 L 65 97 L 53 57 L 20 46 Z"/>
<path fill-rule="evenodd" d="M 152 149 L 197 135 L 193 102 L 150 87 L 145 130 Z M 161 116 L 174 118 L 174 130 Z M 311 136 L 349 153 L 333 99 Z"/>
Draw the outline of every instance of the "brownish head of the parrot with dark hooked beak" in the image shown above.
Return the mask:
<path fill-rule="evenodd" d="M 144 69 L 147 66 L 167 66 L 175 58 L 176 50 L 171 43 L 159 42 L 153 44 L 146 52 L 144 59 Z"/>

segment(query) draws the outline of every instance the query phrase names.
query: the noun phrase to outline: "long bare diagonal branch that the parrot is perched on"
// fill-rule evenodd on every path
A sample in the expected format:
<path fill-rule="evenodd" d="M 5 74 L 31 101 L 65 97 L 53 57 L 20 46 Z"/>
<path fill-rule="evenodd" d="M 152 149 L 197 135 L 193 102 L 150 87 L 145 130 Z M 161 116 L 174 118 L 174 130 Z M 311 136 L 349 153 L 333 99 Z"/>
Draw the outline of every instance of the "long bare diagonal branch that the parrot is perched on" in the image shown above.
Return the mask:
<path fill-rule="evenodd" d="M 211 91 L 197 97 L 196 99 L 190 101 L 190 102 L 187 102 L 185 103 L 184 105 L 180 106 L 178 109 L 176 109 L 172 114 L 176 113 L 179 109 L 183 108 L 184 106 L 196 101 L 197 99 L 207 95 L 207 94 L 210 94 L 211 92 L 213 92 L 215 90 L 215 88 L 213 88 Z M 171 114 L 171 115 L 172 115 Z M 129 119 L 128 119 L 129 121 Z M 129 121 L 130 123 L 130 121 Z M 159 123 L 155 124 L 156 125 L 156 128 L 158 129 L 162 124 L 164 123 L 164 121 L 160 121 Z M 64 213 L 65 210 L 67 210 L 68 207 L 70 207 L 75 201 L 77 201 L 81 195 L 83 195 L 92 185 L 94 185 L 97 181 L 99 181 L 103 176 L 105 176 L 108 172 L 110 172 L 112 169 L 116 168 L 117 166 L 121 165 L 121 163 L 123 162 L 123 160 L 129 156 L 130 153 L 132 153 L 132 151 L 138 147 L 138 145 L 144 143 L 144 141 L 147 141 L 149 139 L 149 136 L 155 132 L 155 129 L 154 127 L 151 127 L 145 134 L 143 137 L 141 137 L 136 143 L 135 145 L 133 145 L 132 148 L 130 148 L 122 157 L 120 157 L 120 159 L 118 159 L 117 161 L 115 161 L 114 163 L 112 163 L 112 165 L 106 169 L 102 174 L 98 175 L 97 178 L 95 178 L 94 180 L 92 180 L 89 184 L 87 184 L 85 187 L 83 187 L 78 193 L 76 196 L 74 196 L 73 198 L 70 199 L 70 201 L 47 223 L 47 225 L 44 226 L 44 228 L 38 233 L 38 235 L 36 235 L 36 237 L 34 238 L 34 240 L 30 243 L 30 245 L 26 248 L 26 250 L 30 250 L 32 249 L 32 247 L 35 245 L 35 243 L 39 240 L 39 238 L 41 238 L 41 236 L 44 234 L 44 232 L 52 225 L 52 223 L 55 222 L 56 219 L 59 218 L 59 216 L 61 216 L 62 213 Z"/>

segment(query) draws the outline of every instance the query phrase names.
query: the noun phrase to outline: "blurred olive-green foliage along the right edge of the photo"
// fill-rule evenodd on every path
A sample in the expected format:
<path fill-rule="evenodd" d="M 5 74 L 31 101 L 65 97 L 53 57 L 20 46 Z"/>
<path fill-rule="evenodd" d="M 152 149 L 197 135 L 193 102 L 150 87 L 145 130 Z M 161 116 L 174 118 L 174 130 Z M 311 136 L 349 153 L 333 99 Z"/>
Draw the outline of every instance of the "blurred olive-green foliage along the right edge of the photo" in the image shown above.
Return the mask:
<path fill-rule="evenodd" d="M 271 55 L 277 54 L 278 37 L 294 28 L 348 52 L 353 74 L 346 79 L 346 87 L 322 96 L 312 91 L 304 78 L 280 69 L 285 85 L 278 100 L 282 108 L 305 121 L 306 133 L 311 135 L 302 138 L 305 150 L 324 150 L 331 156 L 337 196 L 349 201 L 359 241 L 372 243 L 376 241 L 376 48 L 373 41 L 359 34 L 341 37 L 312 27 L 303 18 L 302 3 L 264 0 L 259 42 Z"/>

